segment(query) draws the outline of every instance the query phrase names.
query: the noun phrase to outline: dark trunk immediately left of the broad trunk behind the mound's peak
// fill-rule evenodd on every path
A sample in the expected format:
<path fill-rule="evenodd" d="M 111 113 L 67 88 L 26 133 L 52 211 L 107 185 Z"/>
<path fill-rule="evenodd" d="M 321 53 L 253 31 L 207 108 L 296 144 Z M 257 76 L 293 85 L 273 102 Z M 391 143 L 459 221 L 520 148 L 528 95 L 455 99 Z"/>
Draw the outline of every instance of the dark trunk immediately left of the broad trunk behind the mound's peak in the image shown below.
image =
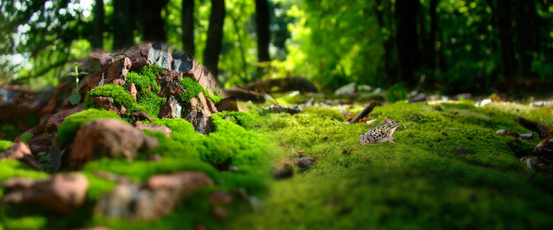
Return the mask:
<path fill-rule="evenodd" d="M 113 48 L 124 48 L 133 44 L 134 19 L 131 6 L 124 0 L 113 0 Z"/>

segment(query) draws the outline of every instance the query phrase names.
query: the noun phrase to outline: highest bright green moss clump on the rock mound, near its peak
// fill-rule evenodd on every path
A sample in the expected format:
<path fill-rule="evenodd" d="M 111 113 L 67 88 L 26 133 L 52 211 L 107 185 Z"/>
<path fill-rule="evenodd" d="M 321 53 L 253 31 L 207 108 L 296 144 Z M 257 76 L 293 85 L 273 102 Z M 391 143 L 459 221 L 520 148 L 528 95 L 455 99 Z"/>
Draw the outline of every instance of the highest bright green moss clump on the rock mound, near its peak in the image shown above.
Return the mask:
<path fill-rule="evenodd" d="M 158 86 L 158 75 L 165 71 L 160 66 L 144 66 L 138 70 L 133 70 L 126 75 L 125 86 L 128 86 L 131 82 L 135 84 L 136 90 L 139 92 L 142 90 L 151 90 L 155 93 L 160 92 L 160 86 Z"/>

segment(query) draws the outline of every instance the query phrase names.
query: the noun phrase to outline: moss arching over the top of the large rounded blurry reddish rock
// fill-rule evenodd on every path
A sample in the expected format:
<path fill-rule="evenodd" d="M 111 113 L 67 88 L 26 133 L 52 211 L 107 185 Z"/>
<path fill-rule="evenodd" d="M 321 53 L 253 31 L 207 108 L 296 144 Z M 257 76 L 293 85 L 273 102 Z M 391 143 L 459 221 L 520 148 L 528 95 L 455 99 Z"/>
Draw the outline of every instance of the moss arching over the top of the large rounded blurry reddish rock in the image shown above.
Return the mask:
<path fill-rule="evenodd" d="M 116 113 L 111 111 L 100 111 L 95 108 L 75 113 L 67 117 L 62 125 L 59 126 L 57 129 L 57 138 L 59 138 L 59 141 L 62 144 L 71 143 L 73 142 L 73 138 L 75 138 L 77 131 L 79 131 L 79 128 L 81 128 L 84 123 L 95 119 L 107 118 L 121 119 L 121 117 L 119 117 Z"/>

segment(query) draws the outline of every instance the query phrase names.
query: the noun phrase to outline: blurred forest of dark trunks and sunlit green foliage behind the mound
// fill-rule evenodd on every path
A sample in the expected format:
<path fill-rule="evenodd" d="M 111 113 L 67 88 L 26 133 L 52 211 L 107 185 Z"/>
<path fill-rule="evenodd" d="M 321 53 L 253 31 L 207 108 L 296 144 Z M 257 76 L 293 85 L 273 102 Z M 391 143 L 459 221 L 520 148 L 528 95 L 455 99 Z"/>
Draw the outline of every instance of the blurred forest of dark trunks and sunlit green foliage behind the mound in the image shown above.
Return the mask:
<path fill-rule="evenodd" d="M 552 85 L 548 0 L 8 0 L 0 11 L 0 84 L 55 86 L 97 48 L 165 40 L 223 86 L 281 77 L 326 92 L 350 82 L 444 94 Z"/>

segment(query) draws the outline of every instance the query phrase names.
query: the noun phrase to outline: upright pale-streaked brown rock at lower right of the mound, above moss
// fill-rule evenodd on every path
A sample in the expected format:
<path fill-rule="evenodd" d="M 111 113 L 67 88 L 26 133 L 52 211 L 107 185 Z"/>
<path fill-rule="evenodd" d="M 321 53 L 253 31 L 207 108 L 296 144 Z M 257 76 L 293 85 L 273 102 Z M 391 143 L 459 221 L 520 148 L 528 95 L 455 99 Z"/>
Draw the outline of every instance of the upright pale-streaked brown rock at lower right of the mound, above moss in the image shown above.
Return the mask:
<path fill-rule="evenodd" d="M 213 102 L 205 98 L 203 93 L 190 99 L 185 107 L 184 118 L 194 126 L 196 133 L 209 134 L 212 130 L 212 109 L 216 112 Z"/>

